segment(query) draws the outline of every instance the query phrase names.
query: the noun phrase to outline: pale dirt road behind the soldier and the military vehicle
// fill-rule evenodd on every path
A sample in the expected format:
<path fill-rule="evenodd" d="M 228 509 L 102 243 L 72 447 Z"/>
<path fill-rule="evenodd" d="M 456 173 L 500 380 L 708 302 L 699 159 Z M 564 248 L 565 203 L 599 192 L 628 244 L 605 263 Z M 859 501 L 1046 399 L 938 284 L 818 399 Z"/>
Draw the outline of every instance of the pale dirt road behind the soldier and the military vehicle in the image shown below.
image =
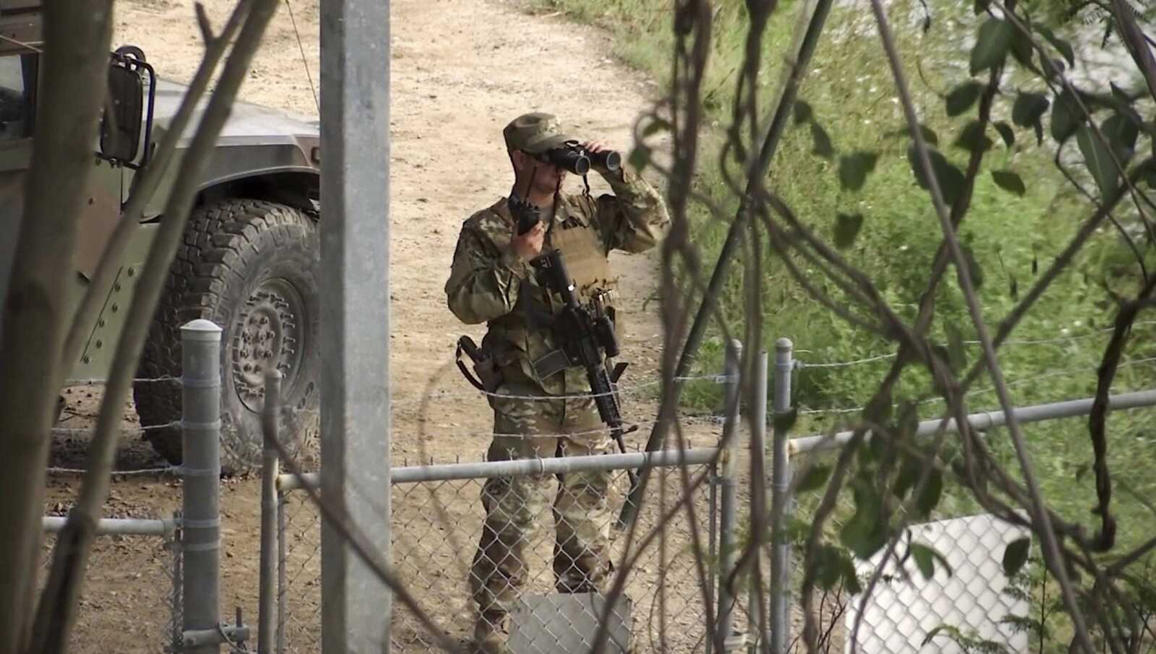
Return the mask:
<path fill-rule="evenodd" d="M 214 25 L 223 24 L 232 3 L 205 1 Z M 119 0 L 116 6 L 113 45 L 139 45 L 162 76 L 187 81 L 202 51 L 192 1 Z M 318 29 L 317 0 L 281 5 L 242 97 L 316 118 L 310 82 L 317 88 Z M 450 362 L 458 336 L 476 340 L 482 328 L 461 325 L 446 309 L 442 289 L 461 222 L 506 193 L 512 180 L 502 126 L 525 111 L 550 111 L 625 153 L 632 122 L 657 88 L 609 59 L 605 35 L 563 16 L 529 15 L 506 0 L 394 0 L 392 39 L 394 465 L 479 460 L 488 444 L 490 411 Z M 594 193 L 606 188 L 601 180 L 591 183 Z M 580 180 L 571 184 L 577 189 Z M 623 359 L 632 362 L 628 385 L 652 381 L 657 369 L 657 303 L 642 309 L 653 291 L 655 254 L 613 257 L 629 315 L 623 343 Z M 427 385 L 435 401 L 425 436 L 418 438 L 418 402 Z M 98 397 L 97 389 L 74 389 L 71 407 L 80 415 L 72 426 L 91 417 Z M 629 397 L 628 416 L 653 415 L 645 394 Z M 126 425 L 134 419 L 126 407 Z M 633 440 L 644 441 L 646 431 Z M 705 429 L 701 436 L 710 439 L 712 433 Z M 123 440 L 123 465 L 151 456 L 131 431 Z M 57 444 L 54 463 L 82 463 L 82 440 Z M 51 484 L 47 510 L 59 514 L 79 484 L 72 477 L 55 477 Z M 230 480 L 222 490 L 222 615 L 231 616 L 239 605 L 250 623 L 257 619 L 258 491 L 259 483 L 250 478 Z M 113 484 L 106 512 L 168 516 L 179 503 L 179 485 L 171 480 L 128 477 Z M 168 602 L 158 575 L 168 555 L 155 545 L 132 538 L 98 543 L 80 623 L 84 638 L 76 651 L 157 649 Z"/>

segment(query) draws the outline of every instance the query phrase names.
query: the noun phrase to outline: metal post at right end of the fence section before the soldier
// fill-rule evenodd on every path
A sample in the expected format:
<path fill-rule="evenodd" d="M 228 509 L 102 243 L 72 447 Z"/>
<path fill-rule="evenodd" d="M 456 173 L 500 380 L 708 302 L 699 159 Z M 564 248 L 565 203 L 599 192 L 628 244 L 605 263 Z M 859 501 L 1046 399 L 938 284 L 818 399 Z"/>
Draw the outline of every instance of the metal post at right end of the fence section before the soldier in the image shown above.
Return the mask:
<path fill-rule="evenodd" d="M 726 350 L 726 422 L 722 424 L 722 461 L 719 475 L 721 493 L 719 498 L 719 579 L 718 579 L 718 631 L 716 649 L 724 654 L 729 649 L 728 640 L 734 636 L 734 596 L 731 594 L 734 572 L 734 528 L 738 522 L 738 471 L 739 438 L 739 359 L 742 343 L 732 341 Z"/>

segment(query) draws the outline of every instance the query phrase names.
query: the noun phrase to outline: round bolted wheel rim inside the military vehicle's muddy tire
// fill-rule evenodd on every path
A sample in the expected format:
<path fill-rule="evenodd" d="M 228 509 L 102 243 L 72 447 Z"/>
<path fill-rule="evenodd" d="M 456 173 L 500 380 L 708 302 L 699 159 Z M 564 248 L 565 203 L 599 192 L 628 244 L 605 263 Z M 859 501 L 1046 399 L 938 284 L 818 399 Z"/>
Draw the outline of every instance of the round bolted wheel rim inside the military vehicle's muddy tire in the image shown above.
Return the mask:
<path fill-rule="evenodd" d="M 265 374 L 276 366 L 288 394 L 301 370 L 305 303 L 286 280 L 266 280 L 245 300 L 234 339 L 232 379 L 237 397 L 251 411 L 265 406 Z M 282 397 L 283 400 L 283 397 Z"/>

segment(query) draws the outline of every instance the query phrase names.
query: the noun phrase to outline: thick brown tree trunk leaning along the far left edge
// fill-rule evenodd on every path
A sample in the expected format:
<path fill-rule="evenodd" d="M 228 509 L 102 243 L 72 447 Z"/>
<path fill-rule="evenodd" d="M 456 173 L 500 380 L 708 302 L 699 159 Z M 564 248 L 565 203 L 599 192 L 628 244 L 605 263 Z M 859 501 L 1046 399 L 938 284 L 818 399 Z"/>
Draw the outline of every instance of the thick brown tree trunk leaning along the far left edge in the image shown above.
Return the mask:
<path fill-rule="evenodd" d="M 40 111 L 0 341 L 0 496 L 13 535 L 0 538 L 0 652 L 23 651 L 30 633 L 53 380 L 67 328 L 66 270 L 92 170 L 111 39 L 106 0 L 44 6 Z"/>

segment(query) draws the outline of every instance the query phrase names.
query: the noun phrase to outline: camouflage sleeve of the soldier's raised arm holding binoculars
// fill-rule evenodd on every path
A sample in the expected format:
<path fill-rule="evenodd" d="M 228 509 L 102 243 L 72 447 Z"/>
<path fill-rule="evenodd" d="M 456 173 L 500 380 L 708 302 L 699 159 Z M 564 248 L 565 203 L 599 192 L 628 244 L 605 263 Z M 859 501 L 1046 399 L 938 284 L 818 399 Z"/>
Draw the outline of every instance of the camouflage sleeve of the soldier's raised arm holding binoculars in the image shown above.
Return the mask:
<path fill-rule="evenodd" d="M 595 215 L 607 252 L 644 252 L 654 247 L 670 224 L 662 196 L 642 177 L 623 169 L 622 179 L 606 176 L 613 194 L 595 200 Z"/>

